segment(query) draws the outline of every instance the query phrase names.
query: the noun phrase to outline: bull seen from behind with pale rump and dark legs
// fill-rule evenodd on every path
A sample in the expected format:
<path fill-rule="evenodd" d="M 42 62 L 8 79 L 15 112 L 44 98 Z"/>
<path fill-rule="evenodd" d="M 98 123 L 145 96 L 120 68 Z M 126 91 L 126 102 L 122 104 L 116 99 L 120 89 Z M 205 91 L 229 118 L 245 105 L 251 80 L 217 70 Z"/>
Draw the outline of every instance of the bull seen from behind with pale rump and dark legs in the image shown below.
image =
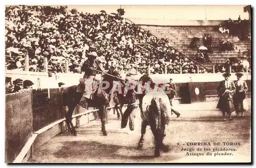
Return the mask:
<path fill-rule="evenodd" d="M 140 78 L 142 84 L 150 81 L 150 88 L 155 89 L 155 84 L 148 75 L 144 75 Z M 161 89 L 160 89 L 161 90 Z M 141 112 L 141 137 L 138 143 L 138 149 L 143 147 L 144 135 L 146 133 L 146 127 L 150 126 L 155 139 L 155 157 L 160 156 L 160 150 L 163 152 L 168 151 L 168 146 L 163 144 L 165 137 L 165 126 L 169 124 L 170 112 L 172 110 L 168 96 L 165 92 L 156 92 L 153 90 L 142 90 L 142 93 L 138 96 L 140 101 Z"/>

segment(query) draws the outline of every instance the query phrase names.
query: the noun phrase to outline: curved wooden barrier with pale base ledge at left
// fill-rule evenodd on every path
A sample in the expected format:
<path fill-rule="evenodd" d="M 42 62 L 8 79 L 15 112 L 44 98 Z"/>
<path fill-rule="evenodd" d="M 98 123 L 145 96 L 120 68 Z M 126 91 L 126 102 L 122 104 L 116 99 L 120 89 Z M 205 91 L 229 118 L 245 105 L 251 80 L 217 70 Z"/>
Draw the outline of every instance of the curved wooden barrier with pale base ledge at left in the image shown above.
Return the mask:
<path fill-rule="evenodd" d="M 42 144 L 66 130 L 66 112 L 62 106 L 64 89 L 28 89 L 6 94 L 7 163 L 26 162 Z M 115 113 L 112 106 L 107 113 Z M 97 109 L 86 110 L 77 106 L 72 118 L 74 126 L 79 127 L 99 116 Z"/>

